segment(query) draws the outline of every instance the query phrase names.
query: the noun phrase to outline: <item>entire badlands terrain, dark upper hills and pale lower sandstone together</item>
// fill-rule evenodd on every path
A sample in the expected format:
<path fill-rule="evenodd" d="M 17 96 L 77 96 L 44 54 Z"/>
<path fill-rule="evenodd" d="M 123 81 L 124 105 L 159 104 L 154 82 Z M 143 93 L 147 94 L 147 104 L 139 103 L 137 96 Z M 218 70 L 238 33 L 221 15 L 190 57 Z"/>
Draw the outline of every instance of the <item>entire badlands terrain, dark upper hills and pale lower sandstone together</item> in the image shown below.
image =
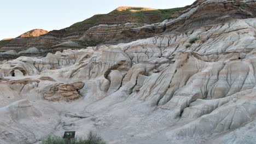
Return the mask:
<path fill-rule="evenodd" d="M 0 143 L 256 143 L 255 0 L 119 7 L 0 47 Z"/>

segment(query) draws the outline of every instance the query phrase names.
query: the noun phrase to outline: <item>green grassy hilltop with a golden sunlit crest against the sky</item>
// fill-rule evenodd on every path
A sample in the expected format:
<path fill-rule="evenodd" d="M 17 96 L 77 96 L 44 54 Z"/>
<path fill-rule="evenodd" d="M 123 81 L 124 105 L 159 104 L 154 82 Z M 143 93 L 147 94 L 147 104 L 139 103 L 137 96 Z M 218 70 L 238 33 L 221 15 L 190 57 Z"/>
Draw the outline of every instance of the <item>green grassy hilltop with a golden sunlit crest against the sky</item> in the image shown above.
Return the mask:
<path fill-rule="evenodd" d="M 98 14 L 86 19 L 82 22 L 77 22 L 72 25 L 72 28 L 84 25 L 95 25 L 96 23 L 104 22 L 142 22 L 156 23 L 164 21 L 168 16 L 184 8 L 173 9 L 151 9 L 151 8 L 136 8 L 136 7 L 119 7 L 108 14 Z"/>

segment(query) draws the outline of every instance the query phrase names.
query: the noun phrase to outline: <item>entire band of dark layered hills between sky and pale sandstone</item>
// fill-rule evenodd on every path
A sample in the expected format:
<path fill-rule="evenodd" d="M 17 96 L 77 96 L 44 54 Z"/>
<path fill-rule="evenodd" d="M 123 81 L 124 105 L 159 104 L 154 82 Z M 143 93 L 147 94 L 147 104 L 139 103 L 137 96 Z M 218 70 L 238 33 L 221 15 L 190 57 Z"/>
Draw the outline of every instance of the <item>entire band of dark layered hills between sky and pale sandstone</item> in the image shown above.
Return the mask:
<path fill-rule="evenodd" d="M 3 43 L 0 41 L 1 51 L 16 51 L 11 55 L 0 53 L 0 60 L 15 59 L 19 56 L 44 57 L 49 52 L 55 53 L 65 49 L 129 43 L 170 32 L 186 33 L 195 28 L 218 25 L 233 19 L 253 18 L 256 14 L 253 1 L 225 0 L 217 3 L 197 0 L 193 5 L 184 8 L 162 10 L 119 7 L 108 14 L 95 15 L 70 27 L 54 30 L 39 37 L 18 37 L 11 41 L 2 41 Z M 43 30 L 34 31 L 40 33 Z M 31 35 L 32 32 L 23 35 Z M 39 52 L 22 52 L 31 47 L 36 47 Z"/>

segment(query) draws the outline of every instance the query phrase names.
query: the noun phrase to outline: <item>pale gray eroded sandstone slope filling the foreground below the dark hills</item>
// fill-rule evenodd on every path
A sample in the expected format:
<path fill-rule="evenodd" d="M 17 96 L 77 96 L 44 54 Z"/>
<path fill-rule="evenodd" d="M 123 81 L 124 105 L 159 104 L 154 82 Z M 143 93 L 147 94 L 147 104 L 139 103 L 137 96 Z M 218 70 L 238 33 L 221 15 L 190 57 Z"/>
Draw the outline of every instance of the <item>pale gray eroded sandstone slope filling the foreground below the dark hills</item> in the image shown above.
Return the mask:
<path fill-rule="evenodd" d="M 4 61 L 0 143 L 65 130 L 107 143 L 255 143 L 255 68 L 255 18 Z"/>

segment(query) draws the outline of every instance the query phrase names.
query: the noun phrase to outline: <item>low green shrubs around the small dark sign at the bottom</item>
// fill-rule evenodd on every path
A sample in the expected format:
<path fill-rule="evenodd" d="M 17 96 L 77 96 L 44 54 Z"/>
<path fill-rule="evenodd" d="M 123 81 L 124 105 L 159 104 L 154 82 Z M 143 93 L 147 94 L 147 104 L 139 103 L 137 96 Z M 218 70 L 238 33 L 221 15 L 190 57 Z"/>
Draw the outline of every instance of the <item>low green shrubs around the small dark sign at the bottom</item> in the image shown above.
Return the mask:
<path fill-rule="evenodd" d="M 67 139 L 63 139 L 61 136 L 48 136 L 43 144 L 65 144 L 67 143 Z M 106 144 L 106 142 L 102 141 L 100 136 L 94 134 L 90 131 L 86 139 L 81 137 L 75 137 L 75 139 L 71 139 L 71 144 Z"/>

